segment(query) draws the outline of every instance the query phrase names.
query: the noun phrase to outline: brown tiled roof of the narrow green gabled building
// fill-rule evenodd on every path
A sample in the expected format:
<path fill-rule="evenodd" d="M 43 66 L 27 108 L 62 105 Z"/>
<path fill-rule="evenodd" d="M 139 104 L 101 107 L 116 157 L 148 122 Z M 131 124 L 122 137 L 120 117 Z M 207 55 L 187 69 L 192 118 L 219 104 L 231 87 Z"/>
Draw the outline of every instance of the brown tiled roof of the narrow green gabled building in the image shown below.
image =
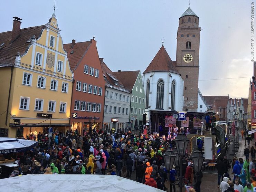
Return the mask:
<path fill-rule="evenodd" d="M 122 82 L 126 89 L 132 90 L 140 71 L 120 71 L 113 74 Z"/>

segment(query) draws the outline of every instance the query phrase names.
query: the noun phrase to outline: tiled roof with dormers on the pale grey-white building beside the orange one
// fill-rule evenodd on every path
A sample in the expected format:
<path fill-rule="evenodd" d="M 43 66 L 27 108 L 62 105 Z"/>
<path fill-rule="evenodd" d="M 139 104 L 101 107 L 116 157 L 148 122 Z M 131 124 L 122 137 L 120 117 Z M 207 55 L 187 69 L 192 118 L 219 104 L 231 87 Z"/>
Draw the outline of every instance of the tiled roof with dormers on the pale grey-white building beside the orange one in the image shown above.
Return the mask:
<path fill-rule="evenodd" d="M 129 90 L 125 88 L 125 86 L 122 84 L 122 82 L 115 76 L 115 74 L 110 70 L 110 68 L 107 67 L 107 65 L 103 62 L 103 59 L 99 59 L 101 61 L 101 68 L 103 75 L 106 77 L 106 86 L 121 90 L 126 93 L 130 93 Z M 118 80 L 117 85 L 114 84 L 114 80 L 112 78 L 115 78 Z"/>

